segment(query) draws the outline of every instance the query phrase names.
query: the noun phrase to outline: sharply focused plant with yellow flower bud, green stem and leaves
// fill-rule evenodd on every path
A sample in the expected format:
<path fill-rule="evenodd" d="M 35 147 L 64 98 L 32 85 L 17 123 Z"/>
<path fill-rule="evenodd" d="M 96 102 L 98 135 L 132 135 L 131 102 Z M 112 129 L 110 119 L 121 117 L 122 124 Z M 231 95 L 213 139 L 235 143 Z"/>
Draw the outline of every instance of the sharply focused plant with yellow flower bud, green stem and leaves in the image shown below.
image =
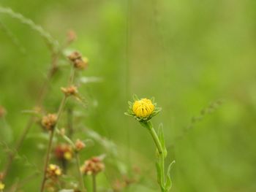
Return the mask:
<path fill-rule="evenodd" d="M 157 115 L 161 108 L 157 107 L 152 99 L 138 99 L 138 96 L 133 96 L 133 102 L 129 101 L 129 109 L 125 112 L 125 115 L 132 116 L 140 122 L 140 125 L 145 127 L 157 146 L 157 182 L 162 192 L 170 191 L 172 187 L 172 181 L 170 179 L 170 168 L 175 161 L 170 163 L 167 168 L 167 174 L 165 174 L 165 158 L 167 156 L 167 150 L 165 147 L 165 138 L 162 124 L 159 125 L 158 134 L 153 128 L 151 118 Z"/>

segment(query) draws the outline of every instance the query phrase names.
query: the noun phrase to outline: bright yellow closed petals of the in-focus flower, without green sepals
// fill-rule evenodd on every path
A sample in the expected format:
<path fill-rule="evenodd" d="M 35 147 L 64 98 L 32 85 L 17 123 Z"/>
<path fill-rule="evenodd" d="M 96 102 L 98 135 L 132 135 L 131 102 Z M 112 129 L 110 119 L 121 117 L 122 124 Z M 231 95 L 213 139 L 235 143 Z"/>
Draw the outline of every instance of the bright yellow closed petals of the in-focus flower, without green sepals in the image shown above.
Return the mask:
<path fill-rule="evenodd" d="M 154 112 L 154 104 L 150 99 L 140 99 L 134 102 L 132 111 L 138 118 L 147 118 Z"/>

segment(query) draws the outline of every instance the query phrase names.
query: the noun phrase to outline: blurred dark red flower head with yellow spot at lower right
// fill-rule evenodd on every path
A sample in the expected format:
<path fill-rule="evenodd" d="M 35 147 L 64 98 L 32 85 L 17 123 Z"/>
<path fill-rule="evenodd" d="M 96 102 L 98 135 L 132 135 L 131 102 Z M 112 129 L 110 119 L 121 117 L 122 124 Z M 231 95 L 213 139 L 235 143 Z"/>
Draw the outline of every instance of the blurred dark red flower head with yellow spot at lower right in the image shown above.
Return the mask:
<path fill-rule="evenodd" d="M 54 154 L 61 161 L 70 161 L 73 157 L 72 147 L 67 144 L 57 145 Z"/>

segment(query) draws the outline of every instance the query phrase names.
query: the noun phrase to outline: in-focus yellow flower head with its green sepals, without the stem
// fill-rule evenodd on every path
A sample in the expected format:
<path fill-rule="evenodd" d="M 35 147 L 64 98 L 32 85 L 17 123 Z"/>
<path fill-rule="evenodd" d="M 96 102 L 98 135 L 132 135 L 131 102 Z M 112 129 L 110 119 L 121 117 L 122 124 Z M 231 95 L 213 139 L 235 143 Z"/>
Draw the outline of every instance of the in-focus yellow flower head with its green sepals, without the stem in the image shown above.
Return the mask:
<path fill-rule="evenodd" d="M 129 101 L 128 112 L 125 112 L 125 115 L 134 117 L 140 122 L 146 122 L 151 120 L 155 115 L 157 115 L 161 108 L 157 107 L 157 104 L 154 103 L 154 99 L 138 99 L 135 95 L 133 96 L 133 102 Z"/>

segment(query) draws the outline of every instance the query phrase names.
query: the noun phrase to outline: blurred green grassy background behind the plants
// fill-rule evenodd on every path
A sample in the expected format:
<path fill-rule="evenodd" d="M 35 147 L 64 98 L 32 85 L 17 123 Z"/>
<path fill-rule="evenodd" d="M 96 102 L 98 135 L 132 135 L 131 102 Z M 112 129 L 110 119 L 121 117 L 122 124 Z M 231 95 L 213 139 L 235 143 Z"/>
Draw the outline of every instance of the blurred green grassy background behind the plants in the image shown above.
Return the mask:
<path fill-rule="evenodd" d="M 153 123 L 156 127 L 163 123 L 167 161 L 176 160 L 172 191 L 256 191 L 256 1 L 1 0 L 0 4 L 31 18 L 59 42 L 64 42 L 69 29 L 76 32 L 78 40 L 69 49 L 79 50 L 90 61 L 80 75 L 102 78 L 80 85 L 88 106 L 76 104 L 76 109 L 83 113 L 83 126 L 116 143 L 127 167 L 140 168 L 142 179 L 127 191 L 158 191 L 151 137 L 124 116 L 133 93 L 154 96 L 162 107 Z M 45 79 L 50 52 L 28 26 L 4 14 L 0 21 L 5 26 L 0 30 L 0 104 L 7 109 L 13 134 L 8 142 L 13 147 L 29 118 L 22 110 L 34 107 Z M 50 112 L 59 105 L 59 88 L 67 75 L 64 67 L 51 83 L 44 102 Z M 189 126 L 192 117 L 219 100 L 221 106 Z M 42 170 L 45 149 L 37 147 L 43 141 L 33 137 L 40 131 L 33 126 L 20 153 Z M 2 134 L 0 139 L 6 138 Z M 83 158 L 102 153 L 94 145 Z M 2 169 L 3 149 L 0 157 Z M 33 169 L 15 161 L 7 184 Z M 111 169 L 107 166 L 105 172 L 110 175 Z M 102 179 L 99 185 L 110 188 L 115 177 Z M 40 179 L 34 178 L 24 190 L 36 191 Z"/>

